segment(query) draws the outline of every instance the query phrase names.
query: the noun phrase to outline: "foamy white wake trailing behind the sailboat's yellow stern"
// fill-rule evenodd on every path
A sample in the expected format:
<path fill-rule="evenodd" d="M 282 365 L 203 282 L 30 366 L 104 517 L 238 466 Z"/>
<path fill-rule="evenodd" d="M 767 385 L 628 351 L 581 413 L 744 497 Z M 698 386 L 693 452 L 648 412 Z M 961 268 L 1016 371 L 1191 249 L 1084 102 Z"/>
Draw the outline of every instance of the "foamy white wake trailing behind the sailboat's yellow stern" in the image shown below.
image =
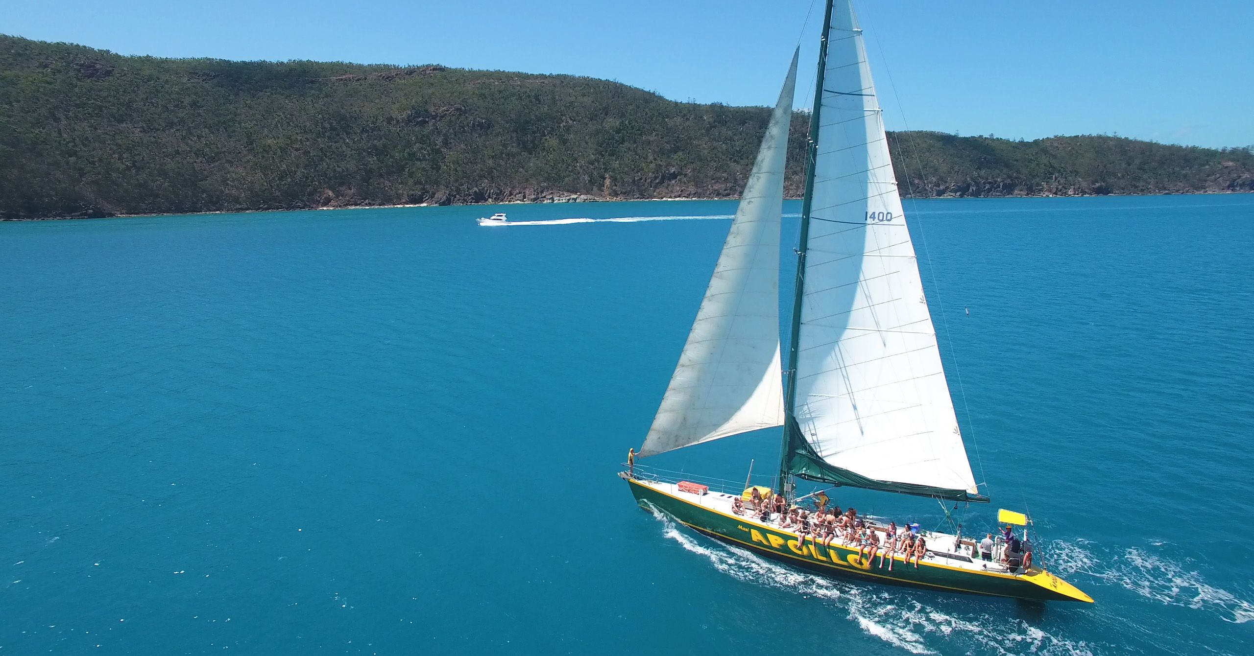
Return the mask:
<path fill-rule="evenodd" d="M 1200 573 L 1188 569 L 1189 558 L 1183 562 L 1160 558 L 1136 547 L 1104 558 L 1092 553 L 1092 546 L 1085 539 L 1053 541 L 1048 551 L 1050 568 L 1060 574 L 1083 574 L 1115 583 L 1167 606 L 1211 611 L 1225 622 L 1254 620 L 1254 603 L 1206 583 Z"/>

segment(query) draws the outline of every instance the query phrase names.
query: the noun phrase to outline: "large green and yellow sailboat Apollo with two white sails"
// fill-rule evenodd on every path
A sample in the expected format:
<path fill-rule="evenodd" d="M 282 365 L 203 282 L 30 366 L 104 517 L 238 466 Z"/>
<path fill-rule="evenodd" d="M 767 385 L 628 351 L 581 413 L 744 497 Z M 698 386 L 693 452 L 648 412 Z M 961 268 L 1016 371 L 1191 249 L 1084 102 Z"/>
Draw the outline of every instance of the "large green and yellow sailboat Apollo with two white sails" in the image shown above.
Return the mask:
<path fill-rule="evenodd" d="M 1038 563 L 1009 557 L 1021 552 L 1003 558 L 999 547 L 986 561 L 973 541 L 954 534 L 961 531 L 912 524 L 925 553 L 909 563 L 890 552 L 885 568 L 884 558 L 877 567 L 867 557 L 858 538 L 819 539 L 790 528 L 780 514 L 752 511 L 759 495 L 825 504 L 818 493 L 796 497 L 798 480 L 942 503 L 989 500 L 972 474 L 940 364 L 861 29 L 848 0 L 825 5 L 786 366 L 779 253 L 796 53 L 680 362 L 643 445 L 628 453 L 619 475 L 648 509 L 823 574 L 1091 603 Z M 746 482 L 711 489 L 635 462 L 777 426 L 774 488 Z M 1002 511 L 999 519 L 1025 526 L 1027 537 L 1026 517 Z M 888 529 L 874 517 L 860 521 L 868 536 Z"/>

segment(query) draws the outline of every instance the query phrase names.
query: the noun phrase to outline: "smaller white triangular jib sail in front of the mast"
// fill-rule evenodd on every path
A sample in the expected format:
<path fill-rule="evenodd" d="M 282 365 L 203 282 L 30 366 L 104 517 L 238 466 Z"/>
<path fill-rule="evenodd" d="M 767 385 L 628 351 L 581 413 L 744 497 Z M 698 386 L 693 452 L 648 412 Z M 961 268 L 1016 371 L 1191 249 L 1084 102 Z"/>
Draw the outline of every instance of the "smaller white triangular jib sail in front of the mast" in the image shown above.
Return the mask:
<path fill-rule="evenodd" d="M 779 267 L 796 54 L 641 455 L 784 424 Z"/>

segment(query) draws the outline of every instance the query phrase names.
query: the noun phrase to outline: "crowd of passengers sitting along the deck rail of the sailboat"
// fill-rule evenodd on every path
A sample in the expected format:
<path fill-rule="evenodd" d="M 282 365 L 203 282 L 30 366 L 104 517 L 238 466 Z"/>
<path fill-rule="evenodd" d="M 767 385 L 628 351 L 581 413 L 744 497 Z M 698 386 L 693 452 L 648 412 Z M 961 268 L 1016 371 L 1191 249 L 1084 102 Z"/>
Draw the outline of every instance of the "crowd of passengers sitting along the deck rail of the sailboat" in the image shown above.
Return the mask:
<path fill-rule="evenodd" d="M 828 547 L 833 541 L 838 541 L 846 547 L 858 547 L 858 557 L 867 563 L 879 556 L 879 567 L 884 567 L 885 556 L 888 571 L 893 571 L 895 554 L 902 554 L 907 564 L 914 559 L 914 567 L 919 567 L 919 559 L 928 553 L 927 539 L 918 533 L 918 524 L 907 524 L 909 528 L 898 531 L 897 522 L 890 522 L 888 528 L 873 527 L 863 518 L 858 517 L 858 511 L 849 508 L 841 512 L 840 507 L 828 508 L 828 497 L 824 493 L 816 495 L 816 509 L 811 513 L 796 505 L 789 505 L 782 494 L 764 495 L 757 488 L 751 488 L 750 499 L 746 503 L 740 497 L 732 500 L 731 512 L 740 516 L 749 516 L 762 523 L 770 523 L 772 516 L 779 516 L 780 528 L 791 528 L 798 542 L 805 544 L 806 538 L 815 544 Z"/>

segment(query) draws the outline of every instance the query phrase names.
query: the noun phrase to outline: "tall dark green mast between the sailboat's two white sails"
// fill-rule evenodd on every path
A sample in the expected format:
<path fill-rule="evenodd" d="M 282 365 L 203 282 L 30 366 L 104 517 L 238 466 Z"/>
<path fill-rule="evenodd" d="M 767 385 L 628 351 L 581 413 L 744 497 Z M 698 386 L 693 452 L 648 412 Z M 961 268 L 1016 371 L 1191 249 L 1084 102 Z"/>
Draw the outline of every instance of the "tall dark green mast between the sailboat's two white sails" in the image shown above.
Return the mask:
<path fill-rule="evenodd" d="M 814 80 L 814 105 L 810 109 L 810 138 L 806 142 L 805 196 L 801 197 L 801 235 L 796 246 L 796 283 L 793 294 L 793 325 L 788 345 L 788 383 L 784 391 L 784 438 L 780 445 L 779 489 L 789 475 L 788 453 L 793 443 L 793 405 L 796 401 L 796 344 L 801 336 L 801 299 L 805 296 L 805 251 L 810 236 L 810 203 L 814 201 L 814 168 L 819 154 L 819 114 L 823 110 L 823 78 L 828 70 L 828 34 L 831 31 L 831 0 L 826 0 L 823 13 L 823 31 L 819 38 L 819 71 Z"/>

